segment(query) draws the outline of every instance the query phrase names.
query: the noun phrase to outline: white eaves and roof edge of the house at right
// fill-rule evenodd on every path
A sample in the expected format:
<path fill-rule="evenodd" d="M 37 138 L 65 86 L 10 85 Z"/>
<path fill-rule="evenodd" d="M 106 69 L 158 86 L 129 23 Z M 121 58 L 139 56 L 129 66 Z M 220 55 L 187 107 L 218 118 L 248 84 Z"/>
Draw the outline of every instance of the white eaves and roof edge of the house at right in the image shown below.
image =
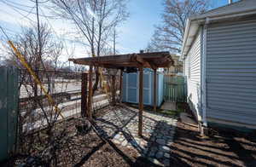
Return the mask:
<path fill-rule="evenodd" d="M 188 54 L 200 25 L 209 24 L 213 21 L 241 18 L 251 14 L 256 14 L 256 0 L 241 0 L 217 9 L 209 10 L 204 14 L 196 14 L 190 17 L 189 20 L 187 20 L 184 32 L 181 58 Z"/>

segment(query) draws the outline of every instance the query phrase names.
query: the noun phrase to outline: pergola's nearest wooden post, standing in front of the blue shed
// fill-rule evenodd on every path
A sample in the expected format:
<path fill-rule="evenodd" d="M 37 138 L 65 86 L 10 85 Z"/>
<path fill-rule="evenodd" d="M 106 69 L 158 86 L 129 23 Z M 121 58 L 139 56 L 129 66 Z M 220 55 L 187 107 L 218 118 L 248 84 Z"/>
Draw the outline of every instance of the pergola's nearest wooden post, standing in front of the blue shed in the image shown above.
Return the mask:
<path fill-rule="evenodd" d="M 139 68 L 139 120 L 138 120 L 138 135 L 143 136 L 143 67 Z"/>

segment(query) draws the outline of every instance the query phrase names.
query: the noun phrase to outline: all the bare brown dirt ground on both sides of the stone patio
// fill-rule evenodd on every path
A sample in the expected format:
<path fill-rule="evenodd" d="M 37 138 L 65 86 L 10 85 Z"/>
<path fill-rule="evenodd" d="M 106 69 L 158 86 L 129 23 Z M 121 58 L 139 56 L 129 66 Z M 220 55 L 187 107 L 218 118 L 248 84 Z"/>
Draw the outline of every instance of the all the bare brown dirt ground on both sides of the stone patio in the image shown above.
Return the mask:
<path fill-rule="evenodd" d="M 98 117 L 105 115 L 105 112 L 98 112 Z M 169 111 L 168 114 L 177 117 L 178 111 Z M 131 147 L 122 147 L 103 141 L 94 130 L 86 132 L 79 131 L 79 122 L 81 119 L 72 118 L 66 123 L 56 127 L 57 133 L 64 135 L 54 135 L 56 140 L 52 146 L 55 146 L 55 161 L 48 163 L 50 149 L 38 141 L 38 135 L 32 139 L 26 138 L 27 146 L 31 144 L 32 149 L 29 153 L 22 153 L 9 162 L 0 164 L 0 166 L 155 166 L 148 157 L 141 156 L 140 153 L 131 149 Z M 170 146 L 170 166 L 234 166 L 234 167 L 254 167 L 256 166 L 256 135 L 245 135 L 233 130 L 211 129 L 209 137 L 202 138 L 197 128 L 177 121 L 173 143 Z M 156 132 L 154 132 L 155 134 Z M 66 134 L 66 135 L 65 135 Z M 60 140 L 60 138 L 63 139 Z M 43 142 L 44 143 L 44 142 Z M 47 148 L 47 147 L 46 147 Z M 169 165 L 167 165 L 169 166 Z"/>

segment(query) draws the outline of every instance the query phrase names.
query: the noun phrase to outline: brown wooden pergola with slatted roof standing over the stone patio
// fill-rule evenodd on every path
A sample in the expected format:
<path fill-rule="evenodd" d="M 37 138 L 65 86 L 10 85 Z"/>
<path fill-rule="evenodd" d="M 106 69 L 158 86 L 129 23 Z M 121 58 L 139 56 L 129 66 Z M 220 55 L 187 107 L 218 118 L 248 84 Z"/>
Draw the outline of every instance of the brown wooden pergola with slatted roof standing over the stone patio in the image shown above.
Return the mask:
<path fill-rule="evenodd" d="M 87 101 L 87 116 L 92 119 L 92 67 L 104 67 L 119 69 L 120 85 L 122 85 L 122 73 L 127 69 L 139 70 L 139 120 L 138 135 L 143 135 L 143 68 L 151 68 L 154 70 L 154 111 L 156 111 L 156 70 L 161 67 L 173 66 L 173 60 L 169 52 L 151 52 L 128 55 L 106 55 L 100 57 L 86 57 L 78 59 L 69 59 L 75 64 L 90 66 L 89 70 L 89 95 Z M 83 81 L 82 81 L 83 82 Z M 86 85 L 85 85 L 86 86 Z M 121 88 L 121 86 L 120 86 Z M 83 94 L 82 87 L 82 94 Z M 120 96 L 122 89 L 120 89 Z M 82 95 L 83 99 L 83 95 Z M 82 105 L 81 107 L 86 107 Z"/>

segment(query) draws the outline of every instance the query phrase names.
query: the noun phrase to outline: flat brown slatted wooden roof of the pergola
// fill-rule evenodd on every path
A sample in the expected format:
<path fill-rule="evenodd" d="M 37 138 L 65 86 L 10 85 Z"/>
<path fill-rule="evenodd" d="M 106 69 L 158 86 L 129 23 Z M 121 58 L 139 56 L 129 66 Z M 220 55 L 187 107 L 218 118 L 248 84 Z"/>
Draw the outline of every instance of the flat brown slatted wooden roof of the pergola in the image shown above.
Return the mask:
<path fill-rule="evenodd" d="M 127 55 L 105 55 L 99 57 L 86 57 L 68 59 L 75 64 L 88 66 L 101 66 L 105 68 L 124 69 L 125 67 L 146 67 L 156 69 L 173 65 L 169 52 L 151 52 Z"/>

